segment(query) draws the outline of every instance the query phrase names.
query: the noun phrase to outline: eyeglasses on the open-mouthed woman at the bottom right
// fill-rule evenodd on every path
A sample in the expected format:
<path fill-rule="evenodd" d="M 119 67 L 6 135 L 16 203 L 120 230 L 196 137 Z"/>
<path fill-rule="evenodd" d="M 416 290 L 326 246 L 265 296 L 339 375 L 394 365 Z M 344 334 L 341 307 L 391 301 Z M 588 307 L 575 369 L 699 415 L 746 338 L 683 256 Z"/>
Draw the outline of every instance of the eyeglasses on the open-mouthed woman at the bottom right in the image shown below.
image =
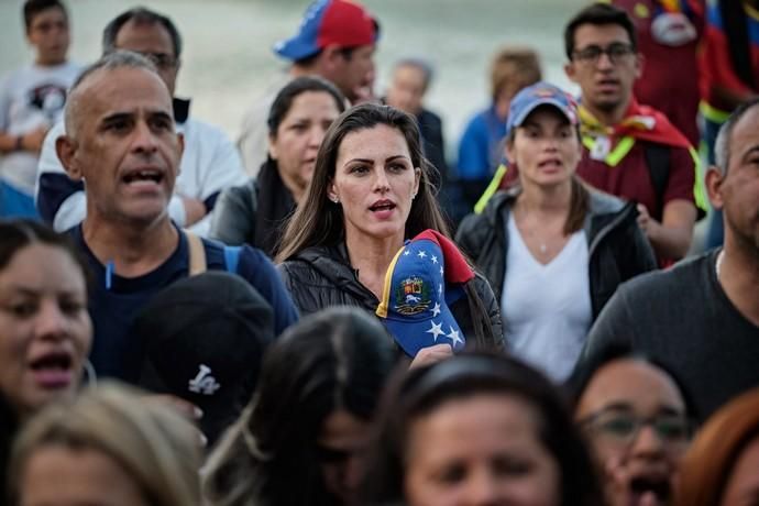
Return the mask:
<path fill-rule="evenodd" d="M 681 415 L 658 415 L 640 418 L 630 413 L 600 411 L 580 421 L 592 432 L 619 446 L 630 446 L 645 426 L 651 427 L 659 440 L 672 448 L 684 447 L 691 439 L 692 425 Z"/>

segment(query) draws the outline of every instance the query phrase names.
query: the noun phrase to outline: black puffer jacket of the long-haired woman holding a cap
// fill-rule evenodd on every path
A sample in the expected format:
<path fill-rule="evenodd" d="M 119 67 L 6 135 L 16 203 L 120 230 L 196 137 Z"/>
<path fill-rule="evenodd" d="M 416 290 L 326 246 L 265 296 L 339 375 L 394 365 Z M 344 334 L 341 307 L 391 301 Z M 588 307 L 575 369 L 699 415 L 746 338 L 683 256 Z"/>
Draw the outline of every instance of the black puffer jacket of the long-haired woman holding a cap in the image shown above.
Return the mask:
<path fill-rule="evenodd" d="M 308 248 L 277 268 L 301 315 L 330 306 L 358 306 L 374 314 L 380 304 L 377 297 L 359 282 L 356 272 L 348 261 L 344 244 Z M 503 328 L 498 300 L 483 276 L 475 277 L 474 287 L 493 326 L 493 344 L 501 349 Z M 466 297 L 454 302 L 451 312 L 464 336 L 474 334 Z"/>

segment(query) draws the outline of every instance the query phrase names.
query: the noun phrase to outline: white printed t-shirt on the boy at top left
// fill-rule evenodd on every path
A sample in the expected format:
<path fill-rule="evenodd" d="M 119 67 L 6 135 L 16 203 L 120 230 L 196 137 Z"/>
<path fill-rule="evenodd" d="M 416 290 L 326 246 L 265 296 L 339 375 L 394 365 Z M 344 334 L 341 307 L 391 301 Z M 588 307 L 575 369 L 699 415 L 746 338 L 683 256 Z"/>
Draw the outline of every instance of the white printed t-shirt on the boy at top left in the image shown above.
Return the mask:
<path fill-rule="evenodd" d="M 7 76 L 0 85 L 0 131 L 22 135 L 62 117 L 68 88 L 81 66 L 67 62 L 53 67 L 28 65 Z M 0 177 L 32 196 L 37 158 L 30 152 L 0 156 Z"/>

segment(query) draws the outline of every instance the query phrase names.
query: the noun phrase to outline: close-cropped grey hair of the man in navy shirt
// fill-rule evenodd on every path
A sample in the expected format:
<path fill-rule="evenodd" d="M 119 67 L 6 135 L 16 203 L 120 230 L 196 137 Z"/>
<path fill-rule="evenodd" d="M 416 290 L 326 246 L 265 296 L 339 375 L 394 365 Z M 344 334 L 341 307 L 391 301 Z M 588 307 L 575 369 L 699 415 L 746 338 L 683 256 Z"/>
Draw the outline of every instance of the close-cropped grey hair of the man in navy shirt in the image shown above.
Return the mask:
<path fill-rule="evenodd" d="M 153 62 L 138 53 L 132 53 L 130 51 L 116 51 L 105 55 L 102 58 L 87 67 L 84 73 L 81 73 L 76 81 L 74 81 L 74 85 L 72 85 L 72 88 L 68 92 L 64 120 L 66 123 L 66 134 L 69 138 L 76 139 L 77 134 L 79 133 L 81 113 L 84 106 L 87 102 L 87 90 L 89 88 L 89 82 L 96 75 L 99 75 L 100 73 L 112 72 L 119 68 L 144 69 L 145 72 L 155 74 L 155 76 L 161 79 L 161 75 L 158 74 L 158 70 Z"/>

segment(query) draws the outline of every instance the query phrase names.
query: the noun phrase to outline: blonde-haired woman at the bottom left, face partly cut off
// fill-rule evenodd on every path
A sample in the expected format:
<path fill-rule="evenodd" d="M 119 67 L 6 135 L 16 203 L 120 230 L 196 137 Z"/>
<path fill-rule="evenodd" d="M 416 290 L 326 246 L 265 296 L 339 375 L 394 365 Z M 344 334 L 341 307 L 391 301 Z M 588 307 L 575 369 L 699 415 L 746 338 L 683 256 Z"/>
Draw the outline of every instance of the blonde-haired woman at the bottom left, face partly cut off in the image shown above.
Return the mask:
<path fill-rule="evenodd" d="M 168 405 L 118 384 L 34 418 L 13 449 L 15 504 L 198 506 L 200 438 Z"/>

